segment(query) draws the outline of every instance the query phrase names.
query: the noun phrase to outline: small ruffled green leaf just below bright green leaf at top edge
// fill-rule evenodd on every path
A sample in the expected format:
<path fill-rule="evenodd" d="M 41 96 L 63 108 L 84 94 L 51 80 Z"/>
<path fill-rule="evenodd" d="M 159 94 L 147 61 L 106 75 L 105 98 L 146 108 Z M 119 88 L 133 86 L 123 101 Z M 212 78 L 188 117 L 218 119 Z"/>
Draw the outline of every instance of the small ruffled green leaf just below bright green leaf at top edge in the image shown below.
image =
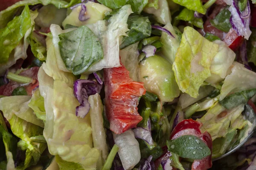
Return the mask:
<path fill-rule="evenodd" d="M 202 18 L 197 18 L 194 16 L 193 10 L 189 10 L 187 8 L 184 8 L 180 14 L 178 14 L 175 19 L 176 20 L 184 20 L 184 21 L 189 21 L 192 25 L 203 29 L 204 28 L 204 22 Z"/>

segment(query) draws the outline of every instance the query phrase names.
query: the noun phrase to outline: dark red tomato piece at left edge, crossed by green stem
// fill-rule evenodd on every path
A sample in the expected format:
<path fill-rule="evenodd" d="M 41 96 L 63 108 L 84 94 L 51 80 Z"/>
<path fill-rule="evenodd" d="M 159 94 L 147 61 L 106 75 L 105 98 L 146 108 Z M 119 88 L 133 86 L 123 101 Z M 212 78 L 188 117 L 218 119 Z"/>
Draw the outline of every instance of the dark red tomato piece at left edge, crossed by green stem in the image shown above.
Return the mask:
<path fill-rule="evenodd" d="M 19 75 L 34 79 L 32 83 L 24 86 L 28 95 L 32 95 L 32 90 L 39 85 L 38 77 L 37 77 L 38 70 L 39 70 L 39 67 L 32 67 L 30 69 L 24 70 L 19 74 Z M 19 84 L 15 81 L 10 81 L 8 84 L 4 86 L 0 86 L 0 95 L 11 96 L 12 91 L 19 86 L 22 86 L 22 84 Z"/>

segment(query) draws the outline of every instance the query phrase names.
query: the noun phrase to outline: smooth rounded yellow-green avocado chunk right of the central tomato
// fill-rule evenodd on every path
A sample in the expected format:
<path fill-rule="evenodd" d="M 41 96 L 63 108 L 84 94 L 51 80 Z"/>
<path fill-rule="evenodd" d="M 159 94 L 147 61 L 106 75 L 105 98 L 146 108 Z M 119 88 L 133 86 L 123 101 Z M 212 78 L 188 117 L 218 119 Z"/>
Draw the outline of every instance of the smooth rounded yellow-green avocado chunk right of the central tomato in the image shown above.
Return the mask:
<path fill-rule="evenodd" d="M 140 62 L 140 81 L 148 92 L 156 94 L 160 101 L 173 101 L 180 95 L 171 64 L 154 55 Z M 147 78 L 143 78 L 148 76 Z"/>

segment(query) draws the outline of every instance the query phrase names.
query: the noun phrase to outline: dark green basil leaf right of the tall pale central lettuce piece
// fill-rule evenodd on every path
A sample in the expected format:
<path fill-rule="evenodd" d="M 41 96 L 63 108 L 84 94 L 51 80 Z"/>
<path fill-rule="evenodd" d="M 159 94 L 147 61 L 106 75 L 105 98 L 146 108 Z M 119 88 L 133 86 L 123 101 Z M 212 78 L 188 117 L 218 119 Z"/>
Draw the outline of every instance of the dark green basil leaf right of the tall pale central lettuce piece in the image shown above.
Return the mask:
<path fill-rule="evenodd" d="M 138 15 L 132 15 L 128 17 L 128 29 L 130 29 L 126 34 L 128 37 L 123 37 L 120 49 L 143 40 L 151 35 L 151 23 L 148 17 L 141 17 Z"/>

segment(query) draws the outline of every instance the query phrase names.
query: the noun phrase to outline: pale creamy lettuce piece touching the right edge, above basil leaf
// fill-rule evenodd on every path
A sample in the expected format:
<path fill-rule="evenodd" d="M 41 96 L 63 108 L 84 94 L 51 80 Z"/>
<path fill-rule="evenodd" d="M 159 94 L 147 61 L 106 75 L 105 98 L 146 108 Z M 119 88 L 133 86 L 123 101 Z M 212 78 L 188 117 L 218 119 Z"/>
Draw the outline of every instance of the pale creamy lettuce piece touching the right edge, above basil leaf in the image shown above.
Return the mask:
<path fill-rule="evenodd" d="M 234 62 L 232 73 L 227 75 L 221 87 L 220 101 L 230 92 L 256 88 L 256 73 L 246 69 L 243 64 Z"/>

